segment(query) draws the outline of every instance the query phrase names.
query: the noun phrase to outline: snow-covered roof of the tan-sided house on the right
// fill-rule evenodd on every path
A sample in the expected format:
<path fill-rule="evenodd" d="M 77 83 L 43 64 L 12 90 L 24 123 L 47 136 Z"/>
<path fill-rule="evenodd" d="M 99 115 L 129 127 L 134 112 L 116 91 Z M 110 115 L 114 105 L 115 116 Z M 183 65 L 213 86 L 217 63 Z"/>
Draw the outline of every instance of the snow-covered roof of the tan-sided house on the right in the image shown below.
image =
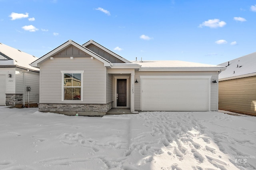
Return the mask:
<path fill-rule="evenodd" d="M 229 63 L 229 64 L 228 64 Z M 226 70 L 219 74 L 219 79 L 229 80 L 256 75 L 256 52 L 219 64 Z"/>

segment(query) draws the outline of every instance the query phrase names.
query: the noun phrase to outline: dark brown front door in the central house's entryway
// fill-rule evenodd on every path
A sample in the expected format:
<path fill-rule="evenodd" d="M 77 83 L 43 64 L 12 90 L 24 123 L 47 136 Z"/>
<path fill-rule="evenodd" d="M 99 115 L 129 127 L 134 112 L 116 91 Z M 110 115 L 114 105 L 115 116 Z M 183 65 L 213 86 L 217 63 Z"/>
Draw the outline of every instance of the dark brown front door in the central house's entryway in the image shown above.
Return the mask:
<path fill-rule="evenodd" d="M 117 79 L 116 106 L 126 106 L 126 79 Z"/>

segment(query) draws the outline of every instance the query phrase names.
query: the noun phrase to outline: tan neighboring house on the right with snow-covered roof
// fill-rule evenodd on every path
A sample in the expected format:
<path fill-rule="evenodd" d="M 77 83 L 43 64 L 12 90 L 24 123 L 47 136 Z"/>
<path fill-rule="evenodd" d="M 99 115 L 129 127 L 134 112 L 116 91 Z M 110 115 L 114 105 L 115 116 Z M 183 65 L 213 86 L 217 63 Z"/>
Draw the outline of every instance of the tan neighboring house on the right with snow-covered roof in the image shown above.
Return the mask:
<path fill-rule="evenodd" d="M 256 53 L 220 64 L 219 109 L 256 115 Z"/>

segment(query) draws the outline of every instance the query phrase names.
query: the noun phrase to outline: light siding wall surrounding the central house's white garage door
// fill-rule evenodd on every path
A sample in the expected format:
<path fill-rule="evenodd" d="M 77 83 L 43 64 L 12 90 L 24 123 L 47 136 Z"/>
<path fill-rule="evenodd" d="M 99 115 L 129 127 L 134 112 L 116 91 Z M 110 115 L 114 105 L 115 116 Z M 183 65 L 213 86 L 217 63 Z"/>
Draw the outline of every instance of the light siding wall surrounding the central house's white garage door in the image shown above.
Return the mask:
<path fill-rule="evenodd" d="M 138 83 L 134 83 L 134 109 L 141 110 L 140 108 L 140 91 L 141 91 L 141 80 L 140 76 L 212 76 L 211 81 L 215 79 L 218 81 L 218 72 L 214 71 L 135 71 L 134 79 L 138 80 Z M 189 83 L 189 82 L 188 82 Z M 218 110 L 218 84 L 211 83 L 210 89 L 210 110 Z"/>

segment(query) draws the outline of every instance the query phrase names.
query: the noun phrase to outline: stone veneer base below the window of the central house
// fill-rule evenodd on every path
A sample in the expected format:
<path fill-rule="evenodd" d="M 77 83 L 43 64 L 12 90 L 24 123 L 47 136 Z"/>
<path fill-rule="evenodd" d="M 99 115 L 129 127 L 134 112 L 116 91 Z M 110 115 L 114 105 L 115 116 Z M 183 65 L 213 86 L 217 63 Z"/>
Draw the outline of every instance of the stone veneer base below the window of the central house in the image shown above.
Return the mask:
<path fill-rule="evenodd" d="M 42 112 L 52 112 L 52 113 L 61 113 L 64 115 L 106 115 L 113 107 L 113 102 L 108 104 L 49 104 L 41 103 L 39 104 L 39 111 Z"/>

